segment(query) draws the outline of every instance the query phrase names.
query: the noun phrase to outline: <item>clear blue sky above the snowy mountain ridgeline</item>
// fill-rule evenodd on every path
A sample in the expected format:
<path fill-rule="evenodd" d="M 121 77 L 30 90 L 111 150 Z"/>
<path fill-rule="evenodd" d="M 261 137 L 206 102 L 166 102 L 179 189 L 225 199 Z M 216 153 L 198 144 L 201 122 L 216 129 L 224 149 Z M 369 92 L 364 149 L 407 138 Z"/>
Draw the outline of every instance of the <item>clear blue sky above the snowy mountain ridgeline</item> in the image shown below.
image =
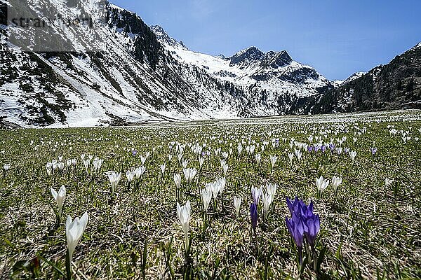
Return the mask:
<path fill-rule="evenodd" d="M 111 0 L 191 50 L 287 50 L 331 80 L 368 71 L 421 41 L 420 0 Z"/>

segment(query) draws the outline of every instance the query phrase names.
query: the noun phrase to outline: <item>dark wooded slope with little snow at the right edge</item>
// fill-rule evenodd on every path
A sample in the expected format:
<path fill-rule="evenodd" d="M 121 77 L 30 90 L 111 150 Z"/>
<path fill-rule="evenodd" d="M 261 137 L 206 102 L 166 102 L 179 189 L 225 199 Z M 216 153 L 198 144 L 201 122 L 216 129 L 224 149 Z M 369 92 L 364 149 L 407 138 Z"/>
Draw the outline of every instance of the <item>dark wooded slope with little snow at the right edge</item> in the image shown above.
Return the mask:
<path fill-rule="evenodd" d="M 316 104 L 322 113 L 420 109 L 421 45 L 324 95 L 331 104 Z"/>

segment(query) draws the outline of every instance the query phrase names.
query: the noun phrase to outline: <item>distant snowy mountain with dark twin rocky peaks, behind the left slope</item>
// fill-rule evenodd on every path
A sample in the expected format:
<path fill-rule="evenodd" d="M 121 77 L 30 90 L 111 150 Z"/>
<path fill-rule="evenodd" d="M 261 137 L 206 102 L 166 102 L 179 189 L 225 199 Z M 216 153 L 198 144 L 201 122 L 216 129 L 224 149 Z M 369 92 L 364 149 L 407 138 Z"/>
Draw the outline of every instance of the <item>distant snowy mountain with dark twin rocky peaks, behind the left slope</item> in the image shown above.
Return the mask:
<path fill-rule="evenodd" d="M 286 50 L 264 53 L 256 47 L 241 50 L 232 57 L 205 55 L 189 50 L 184 43 L 166 34 L 162 27 L 152 26 L 159 42 L 180 62 L 204 69 L 210 76 L 234 83 L 239 87 L 265 91 L 270 102 L 284 95 L 313 95 L 317 89 L 330 85 L 314 68 L 298 62 Z"/>

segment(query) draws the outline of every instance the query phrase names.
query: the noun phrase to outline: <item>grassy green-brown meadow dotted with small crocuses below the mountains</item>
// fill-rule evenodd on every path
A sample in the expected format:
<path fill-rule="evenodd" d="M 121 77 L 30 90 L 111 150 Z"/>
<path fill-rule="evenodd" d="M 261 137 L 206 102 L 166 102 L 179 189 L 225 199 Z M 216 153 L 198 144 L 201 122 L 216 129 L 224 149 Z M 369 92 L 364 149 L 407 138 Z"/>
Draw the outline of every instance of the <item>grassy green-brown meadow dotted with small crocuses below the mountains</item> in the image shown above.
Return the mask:
<path fill-rule="evenodd" d="M 0 279 L 63 279 L 65 220 L 85 212 L 75 279 L 420 279 L 420 138 L 420 111 L 0 130 Z M 201 191 L 220 178 L 205 216 Z M 316 267 L 305 258 L 302 272 L 286 226 L 295 196 L 320 217 Z M 187 201 L 188 256 L 176 207 Z"/>

